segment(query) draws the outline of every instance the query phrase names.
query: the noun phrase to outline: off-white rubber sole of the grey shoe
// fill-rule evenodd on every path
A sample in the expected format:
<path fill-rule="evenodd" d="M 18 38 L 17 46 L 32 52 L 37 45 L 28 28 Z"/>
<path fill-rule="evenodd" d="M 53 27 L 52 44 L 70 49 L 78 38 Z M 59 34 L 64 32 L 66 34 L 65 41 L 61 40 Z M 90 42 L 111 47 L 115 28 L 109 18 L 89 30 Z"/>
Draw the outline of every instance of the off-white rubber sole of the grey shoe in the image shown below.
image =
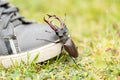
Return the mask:
<path fill-rule="evenodd" d="M 0 63 L 4 67 L 8 68 L 13 63 L 17 62 L 18 64 L 20 64 L 21 60 L 27 63 L 28 55 L 29 55 L 29 62 L 31 62 L 37 54 L 39 54 L 39 57 L 36 63 L 43 62 L 59 55 L 61 53 L 61 47 L 62 47 L 61 43 L 51 43 L 41 48 L 31 50 L 29 52 L 8 55 L 8 56 L 0 56 Z"/>

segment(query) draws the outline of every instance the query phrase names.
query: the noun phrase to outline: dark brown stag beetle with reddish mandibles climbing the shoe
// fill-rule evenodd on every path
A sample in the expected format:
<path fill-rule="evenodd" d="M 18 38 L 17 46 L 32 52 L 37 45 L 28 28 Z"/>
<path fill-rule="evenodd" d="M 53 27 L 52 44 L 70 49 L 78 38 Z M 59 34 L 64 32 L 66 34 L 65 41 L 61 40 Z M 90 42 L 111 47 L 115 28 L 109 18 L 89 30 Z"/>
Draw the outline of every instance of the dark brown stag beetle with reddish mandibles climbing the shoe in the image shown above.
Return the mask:
<path fill-rule="evenodd" d="M 47 16 L 48 20 L 44 17 L 44 21 L 55 31 L 56 35 L 60 39 L 60 42 L 63 44 L 64 49 L 69 53 L 70 56 L 75 58 L 78 57 L 77 48 L 68 33 L 65 23 L 56 15 L 47 14 Z M 52 21 L 49 20 L 50 18 L 55 18 L 58 20 L 60 22 L 60 27 L 53 25 Z"/>

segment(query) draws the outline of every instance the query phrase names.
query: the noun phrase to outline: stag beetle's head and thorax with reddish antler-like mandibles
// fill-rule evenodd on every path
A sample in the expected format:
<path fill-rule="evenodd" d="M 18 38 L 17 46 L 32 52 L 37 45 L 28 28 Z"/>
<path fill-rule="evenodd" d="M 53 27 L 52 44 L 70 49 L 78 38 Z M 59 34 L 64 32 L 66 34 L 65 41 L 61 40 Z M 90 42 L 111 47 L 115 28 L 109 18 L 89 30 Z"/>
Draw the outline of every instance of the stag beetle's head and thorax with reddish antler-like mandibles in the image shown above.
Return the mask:
<path fill-rule="evenodd" d="M 48 19 L 45 19 L 44 17 L 44 21 L 55 31 L 56 35 L 61 39 L 61 41 L 63 43 L 66 42 L 66 40 L 68 39 L 68 29 L 64 23 L 63 20 L 61 20 L 58 16 L 56 15 L 49 15 L 47 14 Z M 56 26 L 52 23 L 52 20 L 50 21 L 50 18 L 55 18 L 56 20 L 58 20 L 60 22 L 60 26 Z"/>

